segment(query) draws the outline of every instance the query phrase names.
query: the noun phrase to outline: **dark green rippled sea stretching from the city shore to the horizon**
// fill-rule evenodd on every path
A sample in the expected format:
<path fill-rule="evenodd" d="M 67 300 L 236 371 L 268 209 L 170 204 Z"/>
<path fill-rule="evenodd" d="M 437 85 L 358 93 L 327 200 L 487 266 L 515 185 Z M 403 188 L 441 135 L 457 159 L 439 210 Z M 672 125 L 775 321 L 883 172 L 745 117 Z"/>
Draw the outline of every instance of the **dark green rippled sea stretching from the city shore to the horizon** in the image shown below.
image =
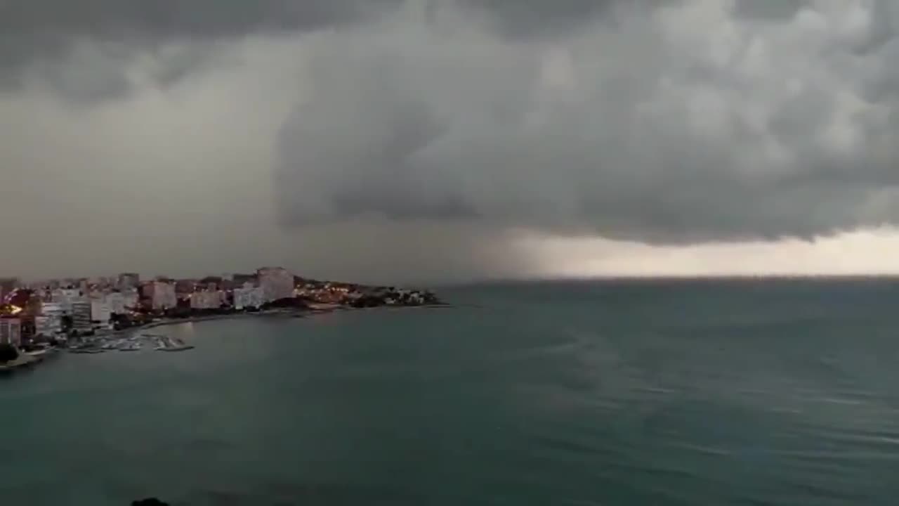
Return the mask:
<path fill-rule="evenodd" d="M 899 281 L 438 293 L 0 377 L 0 504 L 899 503 Z"/>

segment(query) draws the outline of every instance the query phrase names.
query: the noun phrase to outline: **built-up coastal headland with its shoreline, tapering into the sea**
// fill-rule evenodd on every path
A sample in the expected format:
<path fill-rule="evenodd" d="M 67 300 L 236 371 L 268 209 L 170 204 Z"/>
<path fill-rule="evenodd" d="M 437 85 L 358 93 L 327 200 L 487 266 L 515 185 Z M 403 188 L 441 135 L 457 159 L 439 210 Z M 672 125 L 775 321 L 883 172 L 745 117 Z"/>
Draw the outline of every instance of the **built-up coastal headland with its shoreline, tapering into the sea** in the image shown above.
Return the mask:
<path fill-rule="evenodd" d="M 96 281 L 50 280 L 42 286 L 18 287 L 18 280 L 14 280 L 13 294 L 22 301 L 2 304 L 0 316 L 9 319 L 11 329 L 18 328 L 22 333 L 21 341 L 14 341 L 13 346 L 31 352 L 4 363 L 0 371 L 42 362 L 45 357 L 34 353 L 42 348 L 83 354 L 113 349 L 136 351 L 143 347 L 144 340 L 171 337 L 168 332 L 153 334 L 149 330 L 181 323 L 252 317 L 305 318 L 375 308 L 451 307 L 428 290 L 319 281 L 295 276 L 283 267 L 261 267 L 251 275 L 207 276 L 201 280 L 166 276 L 156 276 L 144 284 L 138 280 L 135 273 L 123 273 L 118 283 L 101 277 Z M 77 308 L 76 302 L 80 304 Z M 100 304 L 99 309 L 94 303 Z M 17 317 L 20 312 L 22 315 Z M 38 316 L 45 318 L 38 321 Z M 31 326 L 25 327 L 26 324 Z M 156 349 L 169 348 L 175 347 L 157 342 Z"/>

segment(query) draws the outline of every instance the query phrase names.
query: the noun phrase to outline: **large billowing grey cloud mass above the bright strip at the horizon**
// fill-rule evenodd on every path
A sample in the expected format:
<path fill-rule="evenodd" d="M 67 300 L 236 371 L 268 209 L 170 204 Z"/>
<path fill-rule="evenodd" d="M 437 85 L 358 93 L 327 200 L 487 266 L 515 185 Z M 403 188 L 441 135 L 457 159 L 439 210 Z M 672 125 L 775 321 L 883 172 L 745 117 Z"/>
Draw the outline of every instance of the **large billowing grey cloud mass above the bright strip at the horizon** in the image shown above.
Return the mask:
<path fill-rule="evenodd" d="M 675 243 L 895 223 L 899 6 L 746 4 L 610 3 L 509 38 L 446 2 L 310 35 L 282 217 Z"/>

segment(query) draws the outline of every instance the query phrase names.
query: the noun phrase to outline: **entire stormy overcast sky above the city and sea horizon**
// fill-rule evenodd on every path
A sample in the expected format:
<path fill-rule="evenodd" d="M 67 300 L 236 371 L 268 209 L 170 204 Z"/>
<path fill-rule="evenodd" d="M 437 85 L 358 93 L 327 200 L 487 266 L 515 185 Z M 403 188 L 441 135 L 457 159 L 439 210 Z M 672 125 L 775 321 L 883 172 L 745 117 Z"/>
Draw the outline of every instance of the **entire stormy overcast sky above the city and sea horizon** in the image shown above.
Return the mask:
<path fill-rule="evenodd" d="M 0 274 L 899 273 L 893 0 L 0 0 Z"/>

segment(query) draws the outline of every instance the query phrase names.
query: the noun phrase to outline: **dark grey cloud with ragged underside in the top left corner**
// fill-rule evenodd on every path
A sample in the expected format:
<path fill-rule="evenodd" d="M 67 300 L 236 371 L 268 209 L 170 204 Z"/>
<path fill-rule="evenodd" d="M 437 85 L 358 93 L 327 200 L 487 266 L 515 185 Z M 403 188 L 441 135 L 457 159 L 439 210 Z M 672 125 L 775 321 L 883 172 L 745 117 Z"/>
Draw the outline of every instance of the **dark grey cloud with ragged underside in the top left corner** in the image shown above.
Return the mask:
<path fill-rule="evenodd" d="M 307 32 L 368 19 L 402 0 L 4 0 L 0 2 L 0 89 L 27 77 L 76 102 L 129 91 L 125 68 L 138 51 L 209 46 L 253 34 Z M 190 50 L 194 57 L 206 54 Z M 86 61 L 85 61 L 86 60 Z M 163 59 L 156 84 L 191 71 Z M 196 61 L 194 61 L 196 63 Z M 24 72 L 31 71 L 31 75 Z"/>

